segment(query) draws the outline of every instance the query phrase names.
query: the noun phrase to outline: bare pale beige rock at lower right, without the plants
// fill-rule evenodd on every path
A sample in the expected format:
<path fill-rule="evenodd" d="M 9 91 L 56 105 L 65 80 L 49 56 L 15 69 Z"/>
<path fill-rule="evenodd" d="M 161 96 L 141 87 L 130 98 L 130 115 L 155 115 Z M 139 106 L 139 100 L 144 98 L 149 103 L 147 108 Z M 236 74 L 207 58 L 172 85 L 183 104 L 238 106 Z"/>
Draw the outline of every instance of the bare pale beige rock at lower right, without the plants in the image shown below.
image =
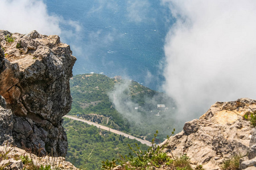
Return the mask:
<path fill-rule="evenodd" d="M 170 138 L 165 151 L 174 156 L 187 154 L 192 164 L 201 164 L 204 169 L 220 169 L 224 160 L 248 153 L 250 158 L 244 164 L 255 165 L 256 130 L 243 118 L 246 112 L 255 111 L 256 100 L 217 102 L 199 120 L 185 123 L 183 131 Z"/>

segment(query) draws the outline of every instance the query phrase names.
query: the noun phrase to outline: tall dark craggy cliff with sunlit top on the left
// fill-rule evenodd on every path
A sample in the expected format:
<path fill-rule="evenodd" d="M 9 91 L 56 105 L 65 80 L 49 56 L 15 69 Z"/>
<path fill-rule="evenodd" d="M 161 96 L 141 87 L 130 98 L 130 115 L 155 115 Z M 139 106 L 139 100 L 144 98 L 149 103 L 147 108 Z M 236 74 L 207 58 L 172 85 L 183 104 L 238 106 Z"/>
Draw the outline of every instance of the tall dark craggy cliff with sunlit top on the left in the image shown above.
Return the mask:
<path fill-rule="evenodd" d="M 61 124 L 71 109 L 69 79 L 76 61 L 69 45 L 56 35 L 2 30 L 0 44 L 0 95 L 6 101 L 0 121 L 10 122 L 13 144 L 38 155 L 65 156 L 68 143 Z M 1 135 L 0 145 L 3 141 Z"/>

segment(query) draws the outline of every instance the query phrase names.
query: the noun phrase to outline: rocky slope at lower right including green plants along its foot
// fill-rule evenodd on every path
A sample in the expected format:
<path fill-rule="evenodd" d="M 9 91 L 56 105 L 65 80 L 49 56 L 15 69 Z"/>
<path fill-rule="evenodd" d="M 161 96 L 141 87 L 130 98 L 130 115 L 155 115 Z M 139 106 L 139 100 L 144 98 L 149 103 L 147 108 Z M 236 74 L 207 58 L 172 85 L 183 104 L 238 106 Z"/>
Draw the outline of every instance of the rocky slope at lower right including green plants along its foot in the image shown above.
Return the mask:
<path fill-rule="evenodd" d="M 256 100 L 217 102 L 199 119 L 186 122 L 183 131 L 166 139 L 160 147 L 123 159 L 115 170 L 253 170 L 255 125 Z"/>

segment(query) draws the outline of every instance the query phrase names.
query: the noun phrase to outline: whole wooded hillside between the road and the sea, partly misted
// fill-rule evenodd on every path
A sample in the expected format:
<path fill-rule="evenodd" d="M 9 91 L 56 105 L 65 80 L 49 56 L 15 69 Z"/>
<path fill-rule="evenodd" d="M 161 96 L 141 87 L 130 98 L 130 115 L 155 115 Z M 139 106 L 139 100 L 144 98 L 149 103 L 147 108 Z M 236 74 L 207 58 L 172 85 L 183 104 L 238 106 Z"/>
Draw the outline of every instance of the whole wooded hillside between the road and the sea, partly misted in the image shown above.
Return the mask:
<path fill-rule="evenodd" d="M 158 142 L 170 135 L 176 126 L 171 116 L 174 104 L 170 97 L 132 80 L 82 74 L 73 76 L 70 84 L 73 104 L 69 114 L 91 114 L 90 117 L 100 114 L 104 116 L 102 125 L 137 137 L 144 136 L 147 140 L 154 137 L 155 130 L 159 130 Z M 118 104 L 113 101 L 114 97 L 118 98 Z M 159 111 L 157 104 L 164 104 L 169 109 Z"/>

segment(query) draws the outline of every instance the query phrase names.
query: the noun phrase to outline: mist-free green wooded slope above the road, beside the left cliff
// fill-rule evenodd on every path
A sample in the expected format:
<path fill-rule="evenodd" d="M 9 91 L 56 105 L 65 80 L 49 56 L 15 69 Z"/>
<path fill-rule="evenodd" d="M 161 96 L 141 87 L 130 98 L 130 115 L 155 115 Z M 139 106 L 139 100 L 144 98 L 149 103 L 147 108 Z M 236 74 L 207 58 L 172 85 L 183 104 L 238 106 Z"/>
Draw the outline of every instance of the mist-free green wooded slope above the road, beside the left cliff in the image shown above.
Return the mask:
<path fill-rule="evenodd" d="M 73 103 L 69 114 L 96 113 L 112 117 L 119 130 L 129 131 L 127 120 L 112 107 L 108 97 L 108 92 L 113 90 L 114 79 L 101 74 L 82 74 L 71 78 L 70 86 Z"/>

